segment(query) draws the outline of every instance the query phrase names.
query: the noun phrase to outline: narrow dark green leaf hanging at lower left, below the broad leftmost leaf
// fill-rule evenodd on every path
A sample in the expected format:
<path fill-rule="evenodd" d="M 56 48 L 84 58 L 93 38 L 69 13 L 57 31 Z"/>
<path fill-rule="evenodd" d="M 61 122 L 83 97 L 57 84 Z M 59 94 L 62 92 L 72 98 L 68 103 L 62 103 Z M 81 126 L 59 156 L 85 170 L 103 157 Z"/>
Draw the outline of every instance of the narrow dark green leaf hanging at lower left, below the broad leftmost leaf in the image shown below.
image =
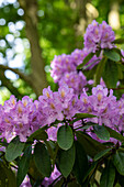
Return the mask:
<path fill-rule="evenodd" d="M 31 155 L 32 155 L 32 146 L 29 146 L 26 147 L 23 156 L 21 157 L 19 162 L 19 169 L 18 169 L 18 176 L 16 176 L 18 186 L 21 185 L 25 175 L 27 174 L 27 170 L 30 167 Z"/>

